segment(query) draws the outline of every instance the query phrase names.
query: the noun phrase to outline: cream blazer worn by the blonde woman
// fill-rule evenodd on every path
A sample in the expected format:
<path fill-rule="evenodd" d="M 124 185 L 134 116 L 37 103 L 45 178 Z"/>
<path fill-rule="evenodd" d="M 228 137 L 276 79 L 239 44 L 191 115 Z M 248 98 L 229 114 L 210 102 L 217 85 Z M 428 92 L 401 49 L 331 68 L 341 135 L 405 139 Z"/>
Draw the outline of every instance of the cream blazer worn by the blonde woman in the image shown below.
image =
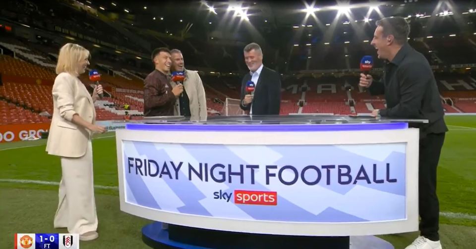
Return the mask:
<path fill-rule="evenodd" d="M 60 73 L 53 85 L 53 119 L 46 151 L 63 157 L 81 157 L 86 153 L 91 133 L 71 122 L 77 113 L 87 122 L 96 122 L 93 99 L 83 83 L 69 73 Z"/>

